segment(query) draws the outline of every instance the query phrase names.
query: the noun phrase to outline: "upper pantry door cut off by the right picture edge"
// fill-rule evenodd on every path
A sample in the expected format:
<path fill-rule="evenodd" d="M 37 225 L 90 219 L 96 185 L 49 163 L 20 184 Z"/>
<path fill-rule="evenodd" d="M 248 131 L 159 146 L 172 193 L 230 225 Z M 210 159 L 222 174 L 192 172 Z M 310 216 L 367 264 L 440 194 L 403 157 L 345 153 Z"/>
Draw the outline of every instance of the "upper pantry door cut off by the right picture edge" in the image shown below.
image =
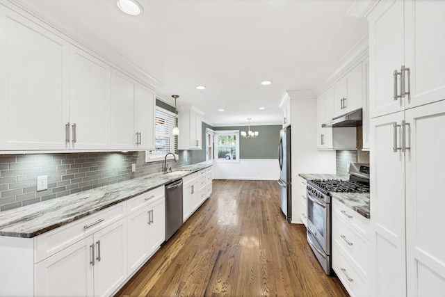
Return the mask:
<path fill-rule="evenodd" d="M 445 1 L 405 1 L 406 107 L 445 99 Z"/>

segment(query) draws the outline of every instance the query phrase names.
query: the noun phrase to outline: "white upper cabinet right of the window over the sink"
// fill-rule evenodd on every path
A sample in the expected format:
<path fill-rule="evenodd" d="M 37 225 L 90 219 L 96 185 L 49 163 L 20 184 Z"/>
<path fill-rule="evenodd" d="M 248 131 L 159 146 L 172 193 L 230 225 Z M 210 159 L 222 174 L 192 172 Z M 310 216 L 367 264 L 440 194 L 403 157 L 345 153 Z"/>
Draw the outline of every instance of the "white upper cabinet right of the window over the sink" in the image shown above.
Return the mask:
<path fill-rule="evenodd" d="M 178 118 L 179 150 L 202 149 L 202 111 L 195 106 L 182 106 Z"/>

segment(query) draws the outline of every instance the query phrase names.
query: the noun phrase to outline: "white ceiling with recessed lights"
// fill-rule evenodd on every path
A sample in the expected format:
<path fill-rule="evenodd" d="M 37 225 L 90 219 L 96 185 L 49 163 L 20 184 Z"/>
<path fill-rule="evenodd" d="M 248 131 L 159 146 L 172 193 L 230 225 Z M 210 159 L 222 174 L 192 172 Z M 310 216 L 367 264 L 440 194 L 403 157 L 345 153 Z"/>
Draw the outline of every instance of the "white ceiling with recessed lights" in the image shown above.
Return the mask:
<path fill-rule="evenodd" d="M 215 126 L 280 124 L 284 92 L 314 88 L 368 29 L 346 16 L 354 0 L 139 0 L 136 17 L 116 1 L 16 2 L 124 56 L 163 84 L 156 97 L 177 94 Z"/>

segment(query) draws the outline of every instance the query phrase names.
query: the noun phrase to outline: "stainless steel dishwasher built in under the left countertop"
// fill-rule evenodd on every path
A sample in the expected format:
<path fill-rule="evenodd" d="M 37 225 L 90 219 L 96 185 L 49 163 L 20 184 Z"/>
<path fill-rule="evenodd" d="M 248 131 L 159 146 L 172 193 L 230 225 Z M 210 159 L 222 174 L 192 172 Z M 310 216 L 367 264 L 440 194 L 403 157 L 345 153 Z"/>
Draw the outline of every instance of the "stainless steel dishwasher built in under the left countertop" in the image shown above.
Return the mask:
<path fill-rule="evenodd" d="M 183 222 L 182 179 L 165 185 L 165 241 L 177 232 Z"/>

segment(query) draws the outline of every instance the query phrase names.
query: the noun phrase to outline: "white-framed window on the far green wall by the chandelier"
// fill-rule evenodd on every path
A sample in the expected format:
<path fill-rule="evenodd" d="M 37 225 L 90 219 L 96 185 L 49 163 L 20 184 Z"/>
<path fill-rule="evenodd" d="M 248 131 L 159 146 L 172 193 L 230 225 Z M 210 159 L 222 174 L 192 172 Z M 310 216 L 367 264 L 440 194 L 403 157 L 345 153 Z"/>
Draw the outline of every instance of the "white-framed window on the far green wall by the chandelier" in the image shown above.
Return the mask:
<path fill-rule="evenodd" d="M 215 161 L 239 163 L 239 131 L 215 131 Z"/>

